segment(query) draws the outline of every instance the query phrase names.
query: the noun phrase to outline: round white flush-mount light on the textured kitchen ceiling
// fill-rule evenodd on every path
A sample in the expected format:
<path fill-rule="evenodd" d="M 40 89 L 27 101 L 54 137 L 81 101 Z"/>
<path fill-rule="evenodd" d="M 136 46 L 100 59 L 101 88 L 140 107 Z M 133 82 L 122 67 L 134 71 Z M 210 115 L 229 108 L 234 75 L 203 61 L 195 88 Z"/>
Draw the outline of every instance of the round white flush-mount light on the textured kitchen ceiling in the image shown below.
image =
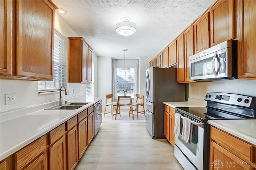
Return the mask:
<path fill-rule="evenodd" d="M 130 36 L 136 32 L 136 24 L 132 22 L 132 18 L 123 17 L 121 22 L 116 24 L 116 32 L 122 36 Z"/>

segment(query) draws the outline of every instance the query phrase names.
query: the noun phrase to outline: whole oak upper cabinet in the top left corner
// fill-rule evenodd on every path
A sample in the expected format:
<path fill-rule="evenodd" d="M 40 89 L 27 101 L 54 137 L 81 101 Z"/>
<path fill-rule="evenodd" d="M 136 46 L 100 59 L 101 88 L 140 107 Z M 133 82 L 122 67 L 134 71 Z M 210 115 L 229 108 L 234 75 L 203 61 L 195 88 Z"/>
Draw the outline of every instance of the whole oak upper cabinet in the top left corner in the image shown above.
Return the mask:
<path fill-rule="evenodd" d="M 50 0 L 4 0 L 0 8 L 1 78 L 52 79 L 54 10 L 58 8 Z"/>

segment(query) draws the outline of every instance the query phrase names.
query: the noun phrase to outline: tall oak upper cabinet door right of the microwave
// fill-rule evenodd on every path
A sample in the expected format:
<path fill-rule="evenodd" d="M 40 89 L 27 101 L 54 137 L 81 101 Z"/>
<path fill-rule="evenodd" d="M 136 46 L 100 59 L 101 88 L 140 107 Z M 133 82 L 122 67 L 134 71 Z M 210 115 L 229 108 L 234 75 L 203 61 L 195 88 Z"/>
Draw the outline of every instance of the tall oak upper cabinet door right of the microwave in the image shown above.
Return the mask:
<path fill-rule="evenodd" d="M 256 1 L 238 1 L 238 78 L 256 80 Z"/>

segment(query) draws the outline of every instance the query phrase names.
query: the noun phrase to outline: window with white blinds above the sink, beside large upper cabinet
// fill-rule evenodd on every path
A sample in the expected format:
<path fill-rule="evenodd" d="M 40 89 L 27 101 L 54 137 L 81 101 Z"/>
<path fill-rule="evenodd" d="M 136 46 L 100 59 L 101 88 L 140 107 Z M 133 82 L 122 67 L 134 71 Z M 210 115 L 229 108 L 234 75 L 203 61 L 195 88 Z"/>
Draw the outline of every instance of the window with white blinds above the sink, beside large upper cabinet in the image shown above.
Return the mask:
<path fill-rule="evenodd" d="M 68 40 L 58 31 L 54 33 L 53 81 L 38 81 L 39 92 L 56 91 L 60 86 L 66 87 Z"/>

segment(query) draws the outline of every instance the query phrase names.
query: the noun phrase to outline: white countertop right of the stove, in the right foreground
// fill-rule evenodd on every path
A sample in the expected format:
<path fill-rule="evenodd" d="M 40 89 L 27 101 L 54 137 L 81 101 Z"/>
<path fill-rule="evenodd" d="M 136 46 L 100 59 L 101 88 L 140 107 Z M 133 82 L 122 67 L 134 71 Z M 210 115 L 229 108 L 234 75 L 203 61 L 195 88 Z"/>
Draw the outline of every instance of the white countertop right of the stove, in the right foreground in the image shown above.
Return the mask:
<path fill-rule="evenodd" d="M 208 124 L 256 146 L 256 120 L 208 120 Z"/>

